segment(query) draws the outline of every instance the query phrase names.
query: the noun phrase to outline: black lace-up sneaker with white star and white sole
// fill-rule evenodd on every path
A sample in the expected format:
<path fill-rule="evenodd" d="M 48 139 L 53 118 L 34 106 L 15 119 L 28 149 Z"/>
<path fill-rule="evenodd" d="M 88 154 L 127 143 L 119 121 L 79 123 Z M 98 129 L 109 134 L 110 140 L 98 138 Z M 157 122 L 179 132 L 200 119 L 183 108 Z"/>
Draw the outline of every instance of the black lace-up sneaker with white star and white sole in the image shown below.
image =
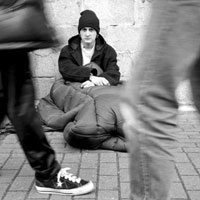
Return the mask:
<path fill-rule="evenodd" d="M 68 173 L 69 168 L 61 169 L 55 178 L 48 181 L 36 179 L 35 187 L 39 193 L 60 195 L 82 195 L 92 192 L 94 184 Z"/>

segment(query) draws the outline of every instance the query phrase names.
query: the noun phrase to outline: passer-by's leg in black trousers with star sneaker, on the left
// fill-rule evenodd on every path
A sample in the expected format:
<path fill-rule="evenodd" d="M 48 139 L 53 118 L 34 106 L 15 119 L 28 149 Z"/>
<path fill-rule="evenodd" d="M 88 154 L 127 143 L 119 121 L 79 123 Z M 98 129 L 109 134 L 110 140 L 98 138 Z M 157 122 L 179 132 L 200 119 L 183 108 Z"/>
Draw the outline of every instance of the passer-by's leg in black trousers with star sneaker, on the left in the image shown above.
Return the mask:
<path fill-rule="evenodd" d="M 61 169 L 49 145 L 34 105 L 34 87 L 27 52 L 1 52 L 3 87 L 8 116 L 31 167 L 36 189 L 43 193 L 79 195 L 91 192 L 93 184 Z"/>

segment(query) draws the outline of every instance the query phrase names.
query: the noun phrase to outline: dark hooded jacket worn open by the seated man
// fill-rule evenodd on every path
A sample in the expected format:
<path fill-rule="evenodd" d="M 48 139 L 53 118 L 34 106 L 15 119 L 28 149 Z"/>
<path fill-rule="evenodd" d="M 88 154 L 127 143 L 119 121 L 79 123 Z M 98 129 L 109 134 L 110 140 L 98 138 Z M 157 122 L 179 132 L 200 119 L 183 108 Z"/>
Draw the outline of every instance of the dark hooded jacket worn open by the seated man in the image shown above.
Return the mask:
<path fill-rule="evenodd" d="M 68 45 L 61 50 L 58 60 L 59 71 L 66 81 L 84 82 L 89 80 L 91 75 L 92 68 L 83 65 L 80 43 L 80 36 L 73 36 L 69 39 Z M 120 72 L 117 65 L 117 54 L 101 35 L 96 39 L 91 62 L 96 63 L 102 69 L 103 72 L 98 75 L 99 77 L 106 78 L 110 85 L 119 83 Z"/>

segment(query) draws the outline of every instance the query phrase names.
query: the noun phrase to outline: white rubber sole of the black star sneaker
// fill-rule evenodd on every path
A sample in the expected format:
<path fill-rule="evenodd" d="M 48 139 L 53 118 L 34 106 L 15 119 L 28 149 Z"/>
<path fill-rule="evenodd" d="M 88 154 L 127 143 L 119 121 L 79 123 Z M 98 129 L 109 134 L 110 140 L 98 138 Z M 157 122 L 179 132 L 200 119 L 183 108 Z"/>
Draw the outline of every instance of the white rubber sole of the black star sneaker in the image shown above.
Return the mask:
<path fill-rule="evenodd" d="M 46 188 L 46 187 L 39 187 L 35 185 L 37 192 L 42 194 L 59 194 L 59 195 L 83 195 L 90 193 L 94 190 L 94 184 L 89 181 L 86 185 L 83 185 L 79 188 L 74 189 L 54 189 L 54 188 Z"/>

